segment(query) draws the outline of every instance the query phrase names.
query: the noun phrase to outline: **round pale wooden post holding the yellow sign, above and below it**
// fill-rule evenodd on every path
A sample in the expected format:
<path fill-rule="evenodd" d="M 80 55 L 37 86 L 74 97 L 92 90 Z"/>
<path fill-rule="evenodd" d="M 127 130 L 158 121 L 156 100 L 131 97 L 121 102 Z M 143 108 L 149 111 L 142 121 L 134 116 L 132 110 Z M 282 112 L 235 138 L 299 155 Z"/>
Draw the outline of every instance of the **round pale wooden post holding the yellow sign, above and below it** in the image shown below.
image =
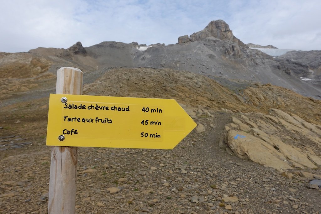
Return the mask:
<path fill-rule="evenodd" d="M 82 71 L 62 67 L 57 71 L 56 94 L 82 94 Z M 57 136 L 58 138 L 58 136 Z M 49 214 L 74 214 L 78 147 L 53 146 L 49 181 Z"/>

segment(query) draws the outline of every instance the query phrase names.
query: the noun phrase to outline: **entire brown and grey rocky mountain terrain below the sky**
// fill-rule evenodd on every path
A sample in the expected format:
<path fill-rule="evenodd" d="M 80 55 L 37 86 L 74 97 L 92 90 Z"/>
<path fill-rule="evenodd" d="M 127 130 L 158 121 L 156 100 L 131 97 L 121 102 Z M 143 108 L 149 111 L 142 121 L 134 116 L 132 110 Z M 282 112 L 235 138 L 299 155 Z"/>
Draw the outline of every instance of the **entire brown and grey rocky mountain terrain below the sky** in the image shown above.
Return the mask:
<path fill-rule="evenodd" d="M 0 213 L 47 212 L 61 66 L 82 69 L 84 95 L 174 98 L 197 123 L 173 150 L 79 148 L 76 213 L 321 213 L 318 51 L 273 58 L 223 21 L 150 46 L 0 54 Z"/>

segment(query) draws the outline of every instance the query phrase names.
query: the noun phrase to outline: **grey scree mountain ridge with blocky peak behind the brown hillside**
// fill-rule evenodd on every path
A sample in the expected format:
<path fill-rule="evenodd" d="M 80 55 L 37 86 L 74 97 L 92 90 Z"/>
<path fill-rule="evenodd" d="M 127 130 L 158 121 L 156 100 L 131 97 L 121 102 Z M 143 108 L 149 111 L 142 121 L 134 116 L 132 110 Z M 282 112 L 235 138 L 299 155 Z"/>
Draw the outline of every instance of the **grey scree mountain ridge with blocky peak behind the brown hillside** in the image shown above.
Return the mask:
<path fill-rule="evenodd" d="M 117 66 L 187 70 L 226 79 L 271 83 L 320 99 L 321 77 L 319 70 L 315 69 L 319 62 L 309 66 L 250 49 L 233 35 L 223 20 L 211 21 L 204 30 L 191 34 L 189 38 L 187 35 L 179 37 L 177 44 L 154 44 L 144 51 L 138 50 L 139 45 L 135 42 L 101 42 L 90 47 L 82 47 L 79 42 L 74 46 L 86 55 L 73 52 L 73 46 L 67 50 L 48 51 L 61 59 L 65 54 L 68 61 L 83 64 L 91 70 Z M 41 54 L 43 51 L 43 48 L 37 48 L 29 52 Z M 302 81 L 302 78 L 312 81 Z"/>

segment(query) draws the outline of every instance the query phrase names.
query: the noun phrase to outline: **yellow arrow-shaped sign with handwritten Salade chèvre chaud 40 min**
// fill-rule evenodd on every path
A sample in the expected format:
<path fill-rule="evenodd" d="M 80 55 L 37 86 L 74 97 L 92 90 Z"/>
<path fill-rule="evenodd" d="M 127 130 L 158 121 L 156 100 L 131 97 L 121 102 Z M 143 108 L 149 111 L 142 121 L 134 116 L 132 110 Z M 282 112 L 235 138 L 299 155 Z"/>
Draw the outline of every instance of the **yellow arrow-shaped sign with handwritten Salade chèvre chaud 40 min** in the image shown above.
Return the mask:
<path fill-rule="evenodd" d="M 173 149 L 195 126 L 174 99 L 50 94 L 46 144 Z"/>

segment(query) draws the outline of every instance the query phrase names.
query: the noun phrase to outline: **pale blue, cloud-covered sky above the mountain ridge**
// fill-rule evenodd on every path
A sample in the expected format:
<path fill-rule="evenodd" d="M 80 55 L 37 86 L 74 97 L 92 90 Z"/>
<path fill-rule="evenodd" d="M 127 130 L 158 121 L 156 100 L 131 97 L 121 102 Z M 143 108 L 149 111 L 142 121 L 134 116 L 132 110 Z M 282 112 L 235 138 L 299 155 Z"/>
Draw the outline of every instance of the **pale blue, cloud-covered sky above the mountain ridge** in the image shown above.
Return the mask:
<path fill-rule="evenodd" d="M 0 0 L 0 52 L 175 44 L 213 20 L 244 43 L 321 50 L 320 0 Z"/>

